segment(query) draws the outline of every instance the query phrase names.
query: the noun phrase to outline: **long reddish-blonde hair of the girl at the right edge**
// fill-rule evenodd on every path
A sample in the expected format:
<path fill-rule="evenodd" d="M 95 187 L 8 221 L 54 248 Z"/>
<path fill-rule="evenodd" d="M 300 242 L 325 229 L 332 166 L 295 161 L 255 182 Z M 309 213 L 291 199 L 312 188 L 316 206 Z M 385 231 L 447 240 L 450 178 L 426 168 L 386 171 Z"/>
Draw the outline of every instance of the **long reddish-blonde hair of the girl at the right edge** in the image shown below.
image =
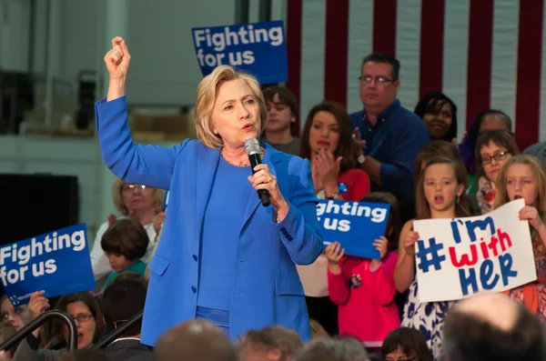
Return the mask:
<path fill-rule="evenodd" d="M 537 211 L 541 216 L 542 222 L 546 223 L 546 168 L 542 164 L 541 160 L 534 155 L 516 155 L 511 156 L 510 159 L 502 165 L 501 172 L 497 178 L 497 196 L 495 196 L 495 208 L 497 209 L 500 206 L 503 206 L 510 202 L 508 192 L 506 191 L 506 178 L 508 175 L 508 169 L 511 165 L 529 165 L 531 166 L 531 171 L 535 176 L 535 181 L 539 187 L 539 199 L 537 202 Z M 536 229 L 531 229 L 531 238 L 538 236 Z"/>

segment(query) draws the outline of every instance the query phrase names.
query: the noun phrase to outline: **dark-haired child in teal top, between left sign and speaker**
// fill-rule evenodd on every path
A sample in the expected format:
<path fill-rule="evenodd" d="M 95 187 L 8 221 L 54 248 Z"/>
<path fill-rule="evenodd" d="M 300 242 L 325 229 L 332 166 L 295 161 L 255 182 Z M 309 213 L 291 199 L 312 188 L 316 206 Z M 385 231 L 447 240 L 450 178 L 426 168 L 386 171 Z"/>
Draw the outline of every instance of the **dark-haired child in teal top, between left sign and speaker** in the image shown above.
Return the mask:
<path fill-rule="evenodd" d="M 114 271 L 108 276 L 105 289 L 121 272 L 133 271 L 144 276 L 146 263 L 140 258 L 146 255 L 148 242 L 146 229 L 135 219 L 120 219 L 108 228 L 100 245 Z"/>

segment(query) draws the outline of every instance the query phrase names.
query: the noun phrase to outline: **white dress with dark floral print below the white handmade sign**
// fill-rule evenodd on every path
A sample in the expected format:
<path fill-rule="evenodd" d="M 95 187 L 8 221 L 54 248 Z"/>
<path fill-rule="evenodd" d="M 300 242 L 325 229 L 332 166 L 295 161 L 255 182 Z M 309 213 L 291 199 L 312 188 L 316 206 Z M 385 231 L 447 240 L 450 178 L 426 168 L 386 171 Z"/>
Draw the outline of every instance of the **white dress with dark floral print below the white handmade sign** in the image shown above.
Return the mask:
<path fill-rule="evenodd" d="M 443 325 L 448 310 L 455 304 L 453 301 L 420 303 L 417 296 L 417 281 L 413 281 L 404 305 L 402 327 L 418 329 L 432 351 L 435 361 L 442 359 Z"/>

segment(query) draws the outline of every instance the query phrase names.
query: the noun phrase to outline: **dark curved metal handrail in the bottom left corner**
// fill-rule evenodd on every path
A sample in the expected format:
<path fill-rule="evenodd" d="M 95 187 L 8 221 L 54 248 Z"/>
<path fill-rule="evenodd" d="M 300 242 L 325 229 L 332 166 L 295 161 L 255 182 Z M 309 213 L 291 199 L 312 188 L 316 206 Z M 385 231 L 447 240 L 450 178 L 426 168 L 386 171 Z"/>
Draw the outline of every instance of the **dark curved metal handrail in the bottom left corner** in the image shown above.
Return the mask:
<path fill-rule="evenodd" d="M 53 309 L 47 311 L 40 316 L 37 316 L 34 320 L 30 321 L 23 328 L 21 328 L 14 336 L 9 337 L 2 344 L 0 344 L 0 350 L 5 351 L 21 342 L 26 336 L 32 334 L 35 329 L 45 324 L 46 321 L 58 318 L 65 323 L 68 328 L 68 340 L 66 340 L 66 349 L 68 351 L 76 350 L 77 348 L 77 326 L 74 318 L 68 315 L 66 312 Z"/>

